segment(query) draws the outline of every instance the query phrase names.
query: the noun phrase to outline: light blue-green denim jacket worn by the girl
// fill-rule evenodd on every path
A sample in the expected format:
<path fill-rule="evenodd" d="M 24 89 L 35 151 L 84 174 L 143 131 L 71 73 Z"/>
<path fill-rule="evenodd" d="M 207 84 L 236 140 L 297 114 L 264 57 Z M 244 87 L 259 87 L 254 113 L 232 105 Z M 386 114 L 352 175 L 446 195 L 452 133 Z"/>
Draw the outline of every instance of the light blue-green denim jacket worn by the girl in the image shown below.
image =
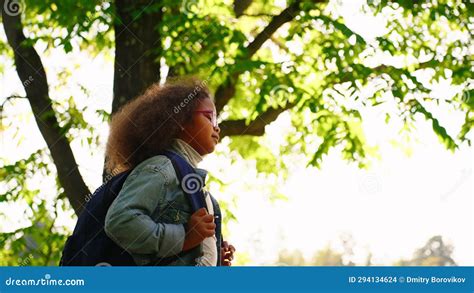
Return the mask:
<path fill-rule="evenodd" d="M 172 151 L 189 161 L 184 153 Z M 207 171 L 195 170 L 205 182 Z M 217 201 L 212 196 L 211 199 L 215 211 L 217 265 L 220 265 L 221 215 Z M 178 255 L 167 264 L 192 266 L 202 256 L 202 246 L 181 251 L 185 238 L 183 224 L 192 213 L 171 161 L 159 155 L 139 164 L 125 180 L 107 212 L 105 232 L 132 255 L 137 265 L 155 265 L 161 258 Z"/>

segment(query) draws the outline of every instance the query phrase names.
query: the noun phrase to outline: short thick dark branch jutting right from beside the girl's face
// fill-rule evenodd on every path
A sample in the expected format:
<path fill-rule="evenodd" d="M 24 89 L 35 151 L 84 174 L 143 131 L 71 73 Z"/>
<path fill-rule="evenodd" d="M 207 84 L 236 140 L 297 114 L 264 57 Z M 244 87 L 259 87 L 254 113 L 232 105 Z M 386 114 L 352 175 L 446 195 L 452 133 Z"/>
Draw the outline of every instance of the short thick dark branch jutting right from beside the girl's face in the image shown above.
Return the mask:
<path fill-rule="evenodd" d="M 287 103 L 285 107 L 269 108 L 266 112 L 252 120 L 248 125 L 245 123 L 245 119 L 223 121 L 219 124 L 219 128 L 221 129 L 220 136 L 262 136 L 265 133 L 265 126 L 275 121 L 281 113 L 294 106 L 294 103 Z"/>

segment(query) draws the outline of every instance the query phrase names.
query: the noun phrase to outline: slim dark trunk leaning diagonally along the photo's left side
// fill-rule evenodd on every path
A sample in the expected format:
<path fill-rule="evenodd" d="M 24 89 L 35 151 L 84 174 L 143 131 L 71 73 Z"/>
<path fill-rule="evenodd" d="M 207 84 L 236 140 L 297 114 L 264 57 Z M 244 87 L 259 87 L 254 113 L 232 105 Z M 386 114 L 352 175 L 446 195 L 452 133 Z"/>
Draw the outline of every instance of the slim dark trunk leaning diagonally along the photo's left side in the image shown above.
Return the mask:
<path fill-rule="evenodd" d="M 90 191 L 79 173 L 69 141 L 61 134 L 62 129 L 51 105 L 48 80 L 41 58 L 33 45 L 25 42 L 21 11 L 12 13 L 7 10 L 6 1 L 8 0 L 0 0 L 0 9 L 2 9 L 3 27 L 8 43 L 14 51 L 18 76 L 26 91 L 38 128 L 56 165 L 59 183 L 64 188 L 74 211 L 79 215 L 83 209 L 85 197 Z"/>

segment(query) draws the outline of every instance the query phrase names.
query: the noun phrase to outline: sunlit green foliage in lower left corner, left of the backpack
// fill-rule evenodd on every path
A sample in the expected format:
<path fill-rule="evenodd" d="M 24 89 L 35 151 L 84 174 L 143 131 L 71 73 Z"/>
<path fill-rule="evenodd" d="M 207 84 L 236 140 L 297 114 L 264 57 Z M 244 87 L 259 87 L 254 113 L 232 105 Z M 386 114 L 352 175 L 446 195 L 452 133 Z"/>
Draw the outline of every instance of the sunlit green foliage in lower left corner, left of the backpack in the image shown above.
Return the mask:
<path fill-rule="evenodd" d="M 44 178 L 51 178 L 50 166 L 47 151 L 39 150 L 24 160 L 11 165 L 4 164 L 0 171 L 0 179 L 6 187 L 6 192 L 2 190 L 0 195 L 2 208 L 15 208 L 24 214 L 20 227 L 13 231 L 4 230 L 0 234 L 2 266 L 48 266 L 59 263 L 69 231 L 56 220 L 59 213 L 71 212 L 71 208 L 63 194 L 56 196 L 41 192 L 40 189 L 47 186 Z M 55 185 L 54 182 L 52 184 Z M 38 188 L 32 189 L 32 186 Z M 61 191 L 60 188 L 58 190 Z M 0 213 L 2 223 L 11 221 L 5 217 L 4 213 Z M 11 228 L 2 225 L 2 229 Z"/>

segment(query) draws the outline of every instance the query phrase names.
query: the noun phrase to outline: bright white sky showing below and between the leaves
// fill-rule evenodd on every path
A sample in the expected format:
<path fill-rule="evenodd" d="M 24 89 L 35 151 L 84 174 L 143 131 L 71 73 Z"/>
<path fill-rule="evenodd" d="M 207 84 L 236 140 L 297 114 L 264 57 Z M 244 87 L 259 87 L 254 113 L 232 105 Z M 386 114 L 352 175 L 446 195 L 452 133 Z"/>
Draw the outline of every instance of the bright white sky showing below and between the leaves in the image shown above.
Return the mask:
<path fill-rule="evenodd" d="M 341 10 L 348 24 L 365 36 L 381 33 L 383 20 L 361 17 L 356 13 L 357 3 L 346 2 Z M 0 37 L 5 38 L 3 30 L 0 30 Z M 79 108 L 90 108 L 86 119 L 100 125 L 102 148 L 91 155 L 79 143 L 73 145 L 81 173 L 90 188 L 95 189 L 100 184 L 107 127 L 92 113 L 95 109 L 110 111 L 113 62 L 102 55 L 91 58 L 77 51 L 65 55 L 61 50 L 53 50 L 49 56 L 43 54 L 42 59 L 48 69 L 53 96 L 65 99 L 73 95 Z M 5 74 L 0 76 L 0 97 L 22 94 L 11 62 L 5 64 Z M 73 69 L 75 65 L 78 68 Z M 69 86 L 54 90 L 55 76 L 64 69 L 72 70 Z M 85 99 L 78 84 L 89 89 L 93 98 Z M 441 96 L 450 94 L 451 90 L 445 85 L 439 86 Z M 101 98 L 100 104 L 95 97 Z M 10 119 L 7 117 L 4 124 L 13 119 L 21 132 L 13 139 L 15 127 L 1 132 L 2 157 L 14 161 L 44 146 L 27 103 L 8 104 L 5 113 Z M 219 178 L 232 179 L 234 174 L 239 174 L 239 181 L 227 186 L 238 194 L 234 209 L 238 222 L 229 225 L 228 240 L 238 251 L 247 254 L 253 265 L 273 263 L 278 251 L 285 248 L 300 249 L 308 257 L 328 244 L 340 249 L 340 237 L 348 234 L 355 241 L 356 263 L 363 263 L 369 251 L 376 264 L 388 265 L 401 257 L 410 258 L 430 237 L 442 235 L 445 241 L 454 245 L 454 258 L 458 264 L 474 264 L 472 148 L 464 146 L 454 154 L 446 151 L 430 124 L 419 119 L 409 146 L 411 156 L 407 156 L 403 147 L 390 143 L 400 140 L 400 136 L 393 125 L 382 122 L 383 117 L 378 113 L 375 109 L 363 115 L 369 142 L 380 146 L 380 161 L 368 171 L 359 170 L 333 151 L 324 160 L 321 170 L 317 170 L 305 169 L 307 161 L 295 155 L 289 181 L 278 183 L 280 191 L 289 198 L 287 202 L 272 204 L 268 201 L 264 185 L 272 184 L 272 181 L 257 179 L 252 171 L 243 172 L 251 170 L 247 165 L 251 163 L 230 165 L 228 158 L 219 155 L 205 159 L 202 166 Z M 448 131 L 457 129 L 462 121 L 459 113 L 438 111 L 436 114 L 447 124 Z M 268 140 L 278 140 L 288 125 L 289 115 L 281 115 L 267 128 Z M 219 150 L 225 151 L 227 143 L 224 139 Z M 48 190 L 47 185 L 51 182 L 38 181 L 36 184 L 41 184 L 42 190 Z M 219 191 L 213 194 L 218 199 L 230 200 L 228 194 Z M 0 221 L 0 231 L 22 224 L 18 222 L 23 217 L 20 208 L 0 206 L 0 209 L 7 215 L 5 222 Z M 64 225 L 73 228 L 75 222 L 71 214 L 60 215 L 60 218 Z"/>

